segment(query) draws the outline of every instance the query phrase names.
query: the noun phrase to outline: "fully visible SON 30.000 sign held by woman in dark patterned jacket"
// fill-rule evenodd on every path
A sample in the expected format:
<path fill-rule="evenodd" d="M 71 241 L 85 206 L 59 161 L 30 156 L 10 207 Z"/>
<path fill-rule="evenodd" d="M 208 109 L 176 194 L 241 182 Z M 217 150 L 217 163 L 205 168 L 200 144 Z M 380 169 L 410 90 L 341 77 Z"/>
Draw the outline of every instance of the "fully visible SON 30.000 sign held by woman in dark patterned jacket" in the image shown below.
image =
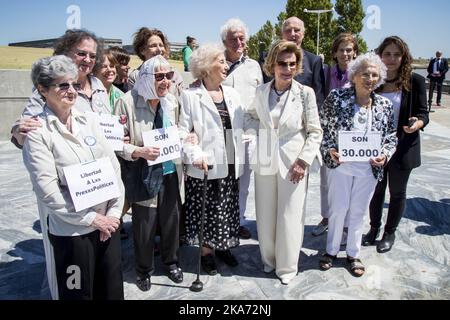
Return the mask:
<path fill-rule="evenodd" d="M 367 162 L 381 152 L 381 133 L 364 131 L 339 131 L 340 161 Z"/>

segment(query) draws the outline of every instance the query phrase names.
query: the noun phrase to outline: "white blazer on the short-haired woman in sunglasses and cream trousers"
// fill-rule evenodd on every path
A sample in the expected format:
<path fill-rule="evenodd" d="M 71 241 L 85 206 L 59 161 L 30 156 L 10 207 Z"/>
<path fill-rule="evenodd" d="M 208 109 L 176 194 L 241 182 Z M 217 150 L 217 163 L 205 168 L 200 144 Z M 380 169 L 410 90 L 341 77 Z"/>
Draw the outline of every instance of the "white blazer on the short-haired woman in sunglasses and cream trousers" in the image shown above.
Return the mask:
<path fill-rule="evenodd" d="M 279 171 L 288 179 L 289 169 L 296 159 L 310 166 L 314 158 L 321 158 L 322 128 L 313 89 L 293 80 L 278 129 L 275 129 L 268 105 L 273 81 L 258 87 L 255 100 L 247 110 L 246 117 L 252 119 L 246 119 L 246 127 L 258 128 L 250 163 L 259 175 L 274 175 Z M 255 127 L 254 120 L 259 120 L 259 126 Z"/>

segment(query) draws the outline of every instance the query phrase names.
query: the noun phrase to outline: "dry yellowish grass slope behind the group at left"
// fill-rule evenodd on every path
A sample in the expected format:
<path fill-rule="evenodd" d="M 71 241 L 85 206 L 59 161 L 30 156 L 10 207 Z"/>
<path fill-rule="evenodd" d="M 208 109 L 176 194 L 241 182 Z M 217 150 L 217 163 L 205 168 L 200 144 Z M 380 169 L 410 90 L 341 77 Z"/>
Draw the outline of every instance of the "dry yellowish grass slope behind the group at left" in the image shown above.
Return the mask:
<path fill-rule="evenodd" d="M 53 54 L 53 49 L 40 48 L 20 48 L 0 46 L 0 69 L 18 69 L 31 70 L 33 62 L 40 58 L 48 57 Z M 183 62 L 170 60 L 170 64 L 177 70 L 183 70 Z M 131 69 L 136 69 L 142 61 L 138 56 L 132 55 L 130 60 Z"/>

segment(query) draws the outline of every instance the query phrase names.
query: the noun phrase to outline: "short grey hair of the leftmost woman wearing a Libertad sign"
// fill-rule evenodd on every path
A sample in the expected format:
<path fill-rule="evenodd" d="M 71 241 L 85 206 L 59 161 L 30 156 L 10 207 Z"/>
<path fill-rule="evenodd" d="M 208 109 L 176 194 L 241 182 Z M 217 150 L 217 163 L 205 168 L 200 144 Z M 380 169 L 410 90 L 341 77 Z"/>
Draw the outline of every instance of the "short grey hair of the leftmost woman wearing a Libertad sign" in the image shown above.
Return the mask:
<path fill-rule="evenodd" d="M 61 77 L 78 78 L 78 67 L 69 57 L 63 55 L 52 56 L 39 59 L 33 63 L 31 81 L 33 81 L 33 85 L 36 88 L 38 85 L 49 88 Z"/>

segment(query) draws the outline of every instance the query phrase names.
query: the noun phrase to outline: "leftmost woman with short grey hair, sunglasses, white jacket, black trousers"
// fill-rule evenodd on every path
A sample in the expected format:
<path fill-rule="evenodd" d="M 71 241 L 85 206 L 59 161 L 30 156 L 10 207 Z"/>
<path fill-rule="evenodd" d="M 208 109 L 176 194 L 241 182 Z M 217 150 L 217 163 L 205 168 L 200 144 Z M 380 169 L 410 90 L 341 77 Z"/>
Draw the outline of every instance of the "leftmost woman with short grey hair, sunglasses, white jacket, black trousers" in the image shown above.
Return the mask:
<path fill-rule="evenodd" d="M 59 299 L 123 299 L 120 237 L 116 232 L 123 196 L 77 211 L 69 192 L 72 180 L 66 174 L 69 167 L 104 160 L 112 171 L 103 178 L 115 180 L 122 193 L 117 158 L 96 121 L 73 108 L 80 83 L 77 66 L 70 58 L 43 58 L 33 65 L 31 76 L 45 105 L 37 120 L 41 126 L 25 139 L 23 160 L 39 214 L 48 217 L 44 223 L 48 223 L 54 251 L 50 259 L 54 259 Z M 95 186 L 94 181 L 88 183 Z"/>

